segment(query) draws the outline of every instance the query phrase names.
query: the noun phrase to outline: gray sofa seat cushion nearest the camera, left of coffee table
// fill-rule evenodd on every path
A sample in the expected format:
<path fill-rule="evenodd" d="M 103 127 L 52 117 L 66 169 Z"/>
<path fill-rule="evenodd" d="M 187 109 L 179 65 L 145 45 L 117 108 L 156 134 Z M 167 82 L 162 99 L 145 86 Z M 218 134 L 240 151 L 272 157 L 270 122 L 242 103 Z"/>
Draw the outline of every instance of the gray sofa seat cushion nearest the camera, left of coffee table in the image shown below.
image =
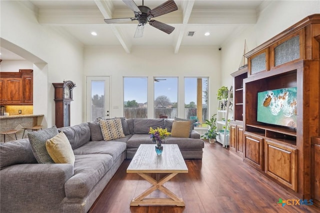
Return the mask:
<path fill-rule="evenodd" d="M 64 183 L 67 198 L 83 198 L 111 168 L 112 156 L 109 154 L 75 155 L 74 174 Z"/>

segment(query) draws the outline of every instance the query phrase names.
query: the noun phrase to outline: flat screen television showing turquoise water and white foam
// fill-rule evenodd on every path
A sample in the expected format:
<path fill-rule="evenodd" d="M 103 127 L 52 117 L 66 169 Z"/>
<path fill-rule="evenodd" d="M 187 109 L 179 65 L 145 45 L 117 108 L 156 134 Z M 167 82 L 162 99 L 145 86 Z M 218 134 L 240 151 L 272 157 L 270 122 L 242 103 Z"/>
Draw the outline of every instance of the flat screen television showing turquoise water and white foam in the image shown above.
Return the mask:
<path fill-rule="evenodd" d="M 296 128 L 296 87 L 257 93 L 258 122 Z"/>

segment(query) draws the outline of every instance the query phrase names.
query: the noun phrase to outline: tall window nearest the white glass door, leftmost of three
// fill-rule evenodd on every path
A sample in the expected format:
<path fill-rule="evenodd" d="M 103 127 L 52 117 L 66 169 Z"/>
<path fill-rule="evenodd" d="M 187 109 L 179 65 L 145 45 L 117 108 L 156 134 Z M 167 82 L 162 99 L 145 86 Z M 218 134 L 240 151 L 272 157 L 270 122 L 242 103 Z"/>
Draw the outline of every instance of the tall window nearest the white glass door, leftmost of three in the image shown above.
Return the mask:
<path fill-rule="evenodd" d="M 147 118 L 147 77 L 123 77 L 123 115 Z"/>

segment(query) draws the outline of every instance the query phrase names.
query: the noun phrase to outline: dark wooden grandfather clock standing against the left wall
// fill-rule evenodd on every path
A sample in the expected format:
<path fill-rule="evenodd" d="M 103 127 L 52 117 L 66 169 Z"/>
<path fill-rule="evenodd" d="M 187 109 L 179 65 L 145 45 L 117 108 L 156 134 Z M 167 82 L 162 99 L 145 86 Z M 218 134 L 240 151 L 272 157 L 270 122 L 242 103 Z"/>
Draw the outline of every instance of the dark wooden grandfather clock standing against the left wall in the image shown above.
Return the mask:
<path fill-rule="evenodd" d="M 54 86 L 55 101 L 55 125 L 63 127 L 70 125 L 70 102 L 72 99 L 72 89 L 75 83 L 65 80 L 62 83 L 52 83 Z"/>

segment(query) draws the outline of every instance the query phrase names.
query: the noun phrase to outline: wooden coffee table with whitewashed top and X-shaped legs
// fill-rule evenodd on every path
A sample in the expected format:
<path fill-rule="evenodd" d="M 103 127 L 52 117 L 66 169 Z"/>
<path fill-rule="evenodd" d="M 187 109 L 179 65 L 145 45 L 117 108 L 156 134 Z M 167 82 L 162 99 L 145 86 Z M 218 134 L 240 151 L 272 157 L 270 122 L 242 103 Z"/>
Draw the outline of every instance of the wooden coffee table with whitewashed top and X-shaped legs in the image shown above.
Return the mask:
<path fill-rule="evenodd" d="M 130 202 L 131 206 L 137 205 L 177 205 L 184 206 L 182 198 L 177 197 L 172 191 L 163 186 L 178 173 L 187 173 L 188 168 L 177 144 L 163 144 L 161 155 L 156 155 L 155 144 L 141 144 L 134 154 L 127 173 L 137 173 L 152 184 Z M 151 177 L 151 173 L 168 173 L 160 180 Z M 154 190 L 160 190 L 168 197 L 145 198 Z"/>

